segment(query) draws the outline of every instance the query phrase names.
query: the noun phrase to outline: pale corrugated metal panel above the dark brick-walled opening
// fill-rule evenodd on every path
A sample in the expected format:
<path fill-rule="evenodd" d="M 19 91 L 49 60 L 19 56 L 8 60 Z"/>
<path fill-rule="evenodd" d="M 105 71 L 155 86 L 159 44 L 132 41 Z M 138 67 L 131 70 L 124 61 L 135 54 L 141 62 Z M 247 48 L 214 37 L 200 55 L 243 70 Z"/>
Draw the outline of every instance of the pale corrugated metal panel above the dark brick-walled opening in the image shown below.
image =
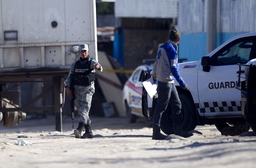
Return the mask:
<path fill-rule="evenodd" d="M 116 17 L 177 18 L 178 0 L 116 0 Z"/>

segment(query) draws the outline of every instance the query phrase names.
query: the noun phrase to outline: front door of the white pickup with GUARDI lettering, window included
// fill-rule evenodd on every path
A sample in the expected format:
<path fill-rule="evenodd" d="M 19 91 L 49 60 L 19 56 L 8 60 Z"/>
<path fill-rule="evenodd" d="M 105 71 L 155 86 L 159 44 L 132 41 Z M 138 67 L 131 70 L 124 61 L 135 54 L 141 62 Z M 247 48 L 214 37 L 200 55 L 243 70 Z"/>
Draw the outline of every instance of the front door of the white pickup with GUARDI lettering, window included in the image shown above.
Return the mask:
<path fill-rule="evenodd" d="M 205 116 L 241 115 L 237 85 L 238 66 L 255 57 L 255 37 L 244 37 L 225 45 L 210 57 L 210 71 L 198 71 L 200 112 Z M 253 49 L 252 49 L 253 48 Z"/>

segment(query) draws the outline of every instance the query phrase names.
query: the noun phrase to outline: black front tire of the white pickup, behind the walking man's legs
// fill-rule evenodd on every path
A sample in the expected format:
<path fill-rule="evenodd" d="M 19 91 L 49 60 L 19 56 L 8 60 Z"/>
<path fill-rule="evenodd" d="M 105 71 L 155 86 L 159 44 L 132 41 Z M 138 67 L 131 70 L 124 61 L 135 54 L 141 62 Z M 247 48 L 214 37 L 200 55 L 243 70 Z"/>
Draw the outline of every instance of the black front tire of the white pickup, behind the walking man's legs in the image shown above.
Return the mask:
<path fill-rule="evenodd" d="M 182 131 L 188 132 L 194 130 L 197 125 L 194 102 L 187 94 L 179 94 L 179 97 L 181 101 Z M 161 129 L 167 135 L 174 134 L 172 125 L 172 109 L 169 104 L 161 118 Z"/>

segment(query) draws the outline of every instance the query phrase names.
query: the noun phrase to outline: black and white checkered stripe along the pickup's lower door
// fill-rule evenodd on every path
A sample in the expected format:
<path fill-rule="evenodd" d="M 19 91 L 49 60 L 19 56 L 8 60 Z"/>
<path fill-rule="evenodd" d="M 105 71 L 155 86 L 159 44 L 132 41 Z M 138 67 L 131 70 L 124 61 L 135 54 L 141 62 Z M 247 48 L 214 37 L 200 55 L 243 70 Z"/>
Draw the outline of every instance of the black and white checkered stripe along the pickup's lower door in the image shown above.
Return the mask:
<path fill-rule="evenodd" d="M 195 107 L 200 113 L 241 111 L 241 101 L 204 102 L 202 108 L 195 103 Z"/>

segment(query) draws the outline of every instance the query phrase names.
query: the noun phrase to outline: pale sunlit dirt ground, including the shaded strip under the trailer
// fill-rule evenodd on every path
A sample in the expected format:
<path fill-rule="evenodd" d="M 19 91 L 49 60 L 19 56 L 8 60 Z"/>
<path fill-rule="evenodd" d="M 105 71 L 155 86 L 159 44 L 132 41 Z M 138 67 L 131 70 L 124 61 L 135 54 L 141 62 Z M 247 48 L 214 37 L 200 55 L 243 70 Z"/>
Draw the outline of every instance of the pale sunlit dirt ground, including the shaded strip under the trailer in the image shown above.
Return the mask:
<path fill-rule="evenodd" d="M 91 120 L 94 139 L 76 139 L 69 117 L 63 117 L 63 132 L 54 131 L 54 116 L 0 127 L 0 167 L 256 167 L 256 136 L 222 136 L 214 125 L 205 125 L 195 129 L 202 135 L 185 140 L 152 140 L 143 118 L 134 124 L 118 117 Z M 17 145 L 22 139 L 31 145 Z"/>

